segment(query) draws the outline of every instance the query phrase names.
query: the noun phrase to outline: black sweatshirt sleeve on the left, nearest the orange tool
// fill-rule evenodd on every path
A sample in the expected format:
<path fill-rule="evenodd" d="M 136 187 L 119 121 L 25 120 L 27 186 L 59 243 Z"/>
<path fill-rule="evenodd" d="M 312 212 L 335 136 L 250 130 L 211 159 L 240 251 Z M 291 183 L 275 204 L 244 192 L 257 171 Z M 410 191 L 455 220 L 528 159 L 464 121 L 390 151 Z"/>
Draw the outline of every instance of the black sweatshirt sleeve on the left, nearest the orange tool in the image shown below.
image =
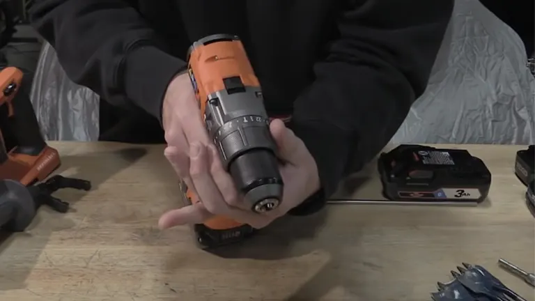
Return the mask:
<path fill-rule="evenodd" d="M 186 63 L 167 53 L 127 0 L 40 0 L 30 15 L 73 82 L 161 121 L 167 85 Z"/>

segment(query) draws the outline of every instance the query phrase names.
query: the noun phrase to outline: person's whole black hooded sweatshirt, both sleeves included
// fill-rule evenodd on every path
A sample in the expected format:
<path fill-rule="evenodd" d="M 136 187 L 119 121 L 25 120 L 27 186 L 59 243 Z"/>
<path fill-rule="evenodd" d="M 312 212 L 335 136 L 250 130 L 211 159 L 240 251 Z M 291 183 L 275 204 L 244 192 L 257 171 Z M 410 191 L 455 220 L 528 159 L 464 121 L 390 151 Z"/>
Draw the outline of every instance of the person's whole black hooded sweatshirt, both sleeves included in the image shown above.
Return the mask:
<path fill-rule="evenodd" d="M 293 116 L 325 200 L 424 92 L 452 10 L 453 0 L 38 0 L 31 18 L 73 82 L 125 109 L 100 117 L 101 138 L 116 141 L 162 139 L 162 98 L 189 45 L 239 36 L 268 113 Z"/>

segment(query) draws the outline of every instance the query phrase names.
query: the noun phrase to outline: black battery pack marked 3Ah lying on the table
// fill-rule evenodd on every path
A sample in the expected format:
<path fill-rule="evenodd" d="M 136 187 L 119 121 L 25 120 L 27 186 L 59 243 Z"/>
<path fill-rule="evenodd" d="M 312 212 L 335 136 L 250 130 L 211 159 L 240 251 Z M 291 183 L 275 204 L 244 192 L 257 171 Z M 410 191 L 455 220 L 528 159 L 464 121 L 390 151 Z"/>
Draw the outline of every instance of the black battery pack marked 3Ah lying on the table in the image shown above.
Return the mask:
<path fill-rule="evenodd" d="M 391 201 L 481 203 L 491 176 L 468 151 L 401 145 L 378 161 L 383 194 Z"/>

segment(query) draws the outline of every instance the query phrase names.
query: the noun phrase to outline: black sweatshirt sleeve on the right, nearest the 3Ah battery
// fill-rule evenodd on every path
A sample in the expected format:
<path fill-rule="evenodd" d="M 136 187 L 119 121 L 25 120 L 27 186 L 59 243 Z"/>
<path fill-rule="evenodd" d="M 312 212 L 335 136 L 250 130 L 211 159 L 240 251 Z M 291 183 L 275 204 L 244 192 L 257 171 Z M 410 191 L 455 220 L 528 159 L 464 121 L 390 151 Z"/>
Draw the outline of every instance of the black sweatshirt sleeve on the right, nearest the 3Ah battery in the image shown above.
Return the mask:
<path fill-rule="evenodd" d="M 323 197 L 290 214 L 319 210 L 347 172 L 386 146 L 426 89 L 453 11 L 453 0 L 349 2 L 339 15 L 339 38 L 314 66 L 316 81 L 293 112 L 292 128 L 316 159 Z"/>

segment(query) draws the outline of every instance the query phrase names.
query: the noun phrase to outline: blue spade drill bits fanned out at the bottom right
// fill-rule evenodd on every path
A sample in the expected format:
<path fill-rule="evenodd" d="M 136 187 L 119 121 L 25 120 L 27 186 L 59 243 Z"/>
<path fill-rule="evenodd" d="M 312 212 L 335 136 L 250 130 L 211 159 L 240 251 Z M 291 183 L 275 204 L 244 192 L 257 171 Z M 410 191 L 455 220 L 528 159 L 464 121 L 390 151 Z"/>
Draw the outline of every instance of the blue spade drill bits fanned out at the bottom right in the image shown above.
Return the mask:
<path fill-rule="evenodd" d="M 433 301 L 526 301 L 480 265 L 463 263 L 457 270 L 452 281 L 438 282 Z"/>

